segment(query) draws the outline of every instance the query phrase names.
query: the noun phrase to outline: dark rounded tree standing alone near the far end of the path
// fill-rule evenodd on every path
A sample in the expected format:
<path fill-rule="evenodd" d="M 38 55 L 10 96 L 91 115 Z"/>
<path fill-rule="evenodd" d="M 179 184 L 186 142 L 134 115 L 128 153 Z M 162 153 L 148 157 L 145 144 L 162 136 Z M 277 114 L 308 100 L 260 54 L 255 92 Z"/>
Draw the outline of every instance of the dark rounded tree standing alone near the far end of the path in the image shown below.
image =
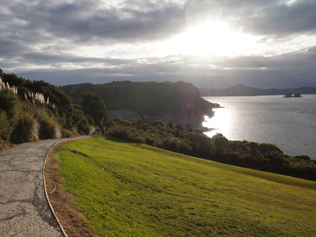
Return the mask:
<path fill-rule="evenodd" d="M 101 96 L 94 92 L 86 92 L 82 97 L 82 111 L 93 118 L 96 125 L 108 119 L 108 111 Z"/>

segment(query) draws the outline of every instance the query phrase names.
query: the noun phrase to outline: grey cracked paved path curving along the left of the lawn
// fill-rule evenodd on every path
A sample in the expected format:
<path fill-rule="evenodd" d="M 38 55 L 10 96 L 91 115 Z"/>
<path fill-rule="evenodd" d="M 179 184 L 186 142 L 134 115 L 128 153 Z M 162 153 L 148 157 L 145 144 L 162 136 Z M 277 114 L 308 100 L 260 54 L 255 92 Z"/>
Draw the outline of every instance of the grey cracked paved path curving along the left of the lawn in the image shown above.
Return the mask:
<path fill-rule="evenodd" d="M 63 237 L 45 197 L 45 152 L 61 141 L 24 143 L 0 153 L 0 237 Z"/>

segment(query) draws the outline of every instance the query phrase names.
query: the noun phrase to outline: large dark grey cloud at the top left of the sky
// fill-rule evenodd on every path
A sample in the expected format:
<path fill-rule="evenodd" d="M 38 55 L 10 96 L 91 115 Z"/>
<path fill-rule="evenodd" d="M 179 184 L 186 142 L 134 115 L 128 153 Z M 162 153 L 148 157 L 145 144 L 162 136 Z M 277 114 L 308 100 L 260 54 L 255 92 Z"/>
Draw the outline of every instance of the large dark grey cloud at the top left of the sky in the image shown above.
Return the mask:
<path fill-rule="evenodd" d="M 9 9 L 26 24 L 19 31 L 45 29 L 53 37 L 75 41 L 150 40 L 165 38 L 185 25 L 182 5 L 154 4 L 151 1 L 126 1 L 118 7 L 103 8 L 98 0 L 72 3 L 41 1 L 15 4 Z"/>

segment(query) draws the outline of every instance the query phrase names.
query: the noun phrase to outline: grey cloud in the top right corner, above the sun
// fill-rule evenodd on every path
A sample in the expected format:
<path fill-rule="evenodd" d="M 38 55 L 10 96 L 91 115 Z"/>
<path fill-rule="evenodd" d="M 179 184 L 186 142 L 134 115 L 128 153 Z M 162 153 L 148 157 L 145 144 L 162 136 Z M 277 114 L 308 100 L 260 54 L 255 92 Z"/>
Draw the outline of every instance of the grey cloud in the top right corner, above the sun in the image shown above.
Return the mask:
<path fill-rule="evenodd" d="M 228 21 L 232 28 L 263 36 L 315 34 L 315 0 L 192 0 L 191 21 Z"/>

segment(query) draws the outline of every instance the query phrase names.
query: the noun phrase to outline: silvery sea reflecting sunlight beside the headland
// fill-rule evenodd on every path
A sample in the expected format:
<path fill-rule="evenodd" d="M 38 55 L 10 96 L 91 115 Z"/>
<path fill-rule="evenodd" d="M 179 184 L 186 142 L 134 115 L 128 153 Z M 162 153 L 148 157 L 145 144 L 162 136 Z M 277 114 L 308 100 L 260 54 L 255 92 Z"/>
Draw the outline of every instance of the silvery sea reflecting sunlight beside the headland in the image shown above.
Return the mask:
<path fill-rule="evenodd" d="M 308 155 L 316 159 L 316 95 L 282 98 L 281 95 L 203 97 L 225 108 L 205 116 L 205 132 L 222 133 L 229 140 L 272 143 L 284 154 Z"/>

